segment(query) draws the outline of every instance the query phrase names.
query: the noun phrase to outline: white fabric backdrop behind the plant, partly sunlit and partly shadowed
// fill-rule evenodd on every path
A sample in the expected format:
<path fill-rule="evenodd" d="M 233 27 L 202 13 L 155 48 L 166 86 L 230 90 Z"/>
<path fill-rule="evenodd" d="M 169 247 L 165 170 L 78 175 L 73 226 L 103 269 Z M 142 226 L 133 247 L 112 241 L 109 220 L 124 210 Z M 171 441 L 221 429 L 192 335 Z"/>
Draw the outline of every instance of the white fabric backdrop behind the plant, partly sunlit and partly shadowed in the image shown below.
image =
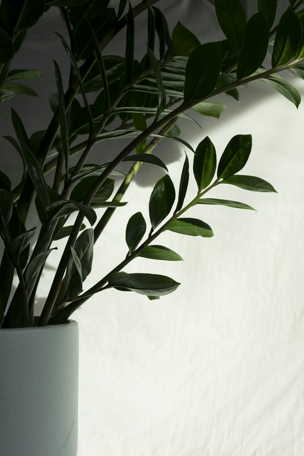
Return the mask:
<path fill-rule="evenodd" d="M 222 38 L 209 3 L 163 0 L 158 6 L 171 29 L 180 20 L 201 42 Z M 55 91 L 52 58 L 67 67 L 53 30 L 63 33 L 64 26 L 51 11 L 27 37 L 27 61 L 21 55 L 14 60 L 13 68 L 44 72 L 33 84 L 41 98 L 31 100 L 31 111 L 25 98 L 10 103 L 29 134 L 51 117 L 42 106 Z M 44 39 L 37 44 L 41 31 Z M 137 33 L 142 45 L 145 38 Z M 114 47 L 123 50 L 122 36 Z M 302 80 L 285 77 L 304 95 Z M 241 88 L 240 96 L 239 104 L 216 97 L 227 104 L 219 120 L 194 114 L 202 130 L 180 122 L 182 137 L 196 147 L 209 135 L 219 158 L 232 136 L 252 134 L 252 154 L 241 173 L 271 182 L 278 194 L 217 187 L 208 196 L 246 202 L 258 212 L 196 207 L 188 217 L 209 223 L 213 238 L 166 232 L 157 244 L 177 251 L 184 262 L 136 259 L 125 268 L 169 275 L 181 282 L 175 293 L 148 301 L 108 290 L 74 313 L 80 330 L 78 456 L 304 455 L 304 105 L 297 111 L 260 82 Z M 112 147 L 97 149 L 94 159 L 107 161 Z M 4 143 L 2 150 L 4 171 L 14 180 L 19 171 L 8 161 L 12 151 Z M 156 155 L 178 187 L 184 148 L 164 140 Z M 126 195 L 128 205 L 104 231 L 86 287 L 124 258 L 129 216 L 140 210 L 149 220 L 150 192 L 163 175 L 150 170 L 142 166 Z M 196 193 L 193 180 L 189 200 Z M 28 226 L 35 224 L 31 218 Z M 54 264 L 44 272 L 40 306 L 59 256 L 52 254 Z"/>

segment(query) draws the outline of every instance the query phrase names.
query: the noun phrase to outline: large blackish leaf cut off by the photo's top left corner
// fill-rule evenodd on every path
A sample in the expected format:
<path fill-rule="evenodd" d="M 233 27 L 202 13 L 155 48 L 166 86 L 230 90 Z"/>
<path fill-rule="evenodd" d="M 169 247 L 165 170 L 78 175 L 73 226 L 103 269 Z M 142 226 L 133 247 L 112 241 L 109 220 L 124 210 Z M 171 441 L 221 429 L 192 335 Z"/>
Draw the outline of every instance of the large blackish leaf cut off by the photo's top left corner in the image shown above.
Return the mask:
<path fill-rule="evenodd" d="M 0 21 L 10 36 L 32 27 L 44 13 L 45 0 L 2 0 Z M 2 38 L 0 39 L 2 41 Z"/>

